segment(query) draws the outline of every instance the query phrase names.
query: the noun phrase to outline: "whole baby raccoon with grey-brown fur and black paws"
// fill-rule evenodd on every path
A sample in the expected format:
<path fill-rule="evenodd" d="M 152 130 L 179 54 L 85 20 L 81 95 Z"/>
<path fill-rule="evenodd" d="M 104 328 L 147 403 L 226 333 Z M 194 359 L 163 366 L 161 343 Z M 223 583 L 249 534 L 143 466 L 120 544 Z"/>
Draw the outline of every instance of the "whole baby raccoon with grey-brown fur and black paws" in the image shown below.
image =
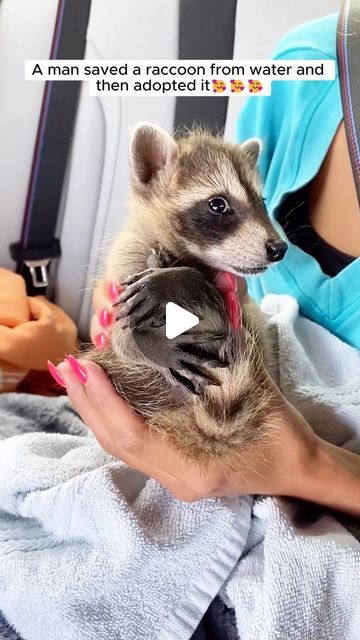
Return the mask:
<path fill-rule="evenodd" d="M 109 347 L 89 354 L 151 429 L 202 463 L 234 461 L 259 443 L 271 400 L 260 312 L 240 300 L 241 327 L 231 327 L 214 285 L 219 271 L 258 274 L 285 254 L 261 197 L 259 152 L 255 139 L 135 130 L 132 215 L 105 274 L 125 290 Z M 168 302 L 200 318 L 172 340 Z"/>

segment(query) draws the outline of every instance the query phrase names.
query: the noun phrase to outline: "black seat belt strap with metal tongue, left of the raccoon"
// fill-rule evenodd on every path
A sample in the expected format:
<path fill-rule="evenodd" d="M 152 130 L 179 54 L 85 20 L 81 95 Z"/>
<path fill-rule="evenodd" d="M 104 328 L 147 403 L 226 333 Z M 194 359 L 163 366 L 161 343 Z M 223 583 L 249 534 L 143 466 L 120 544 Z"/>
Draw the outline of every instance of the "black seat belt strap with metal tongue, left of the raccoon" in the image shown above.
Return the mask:
<path fill-rule="evenodd" d="M 82 59 L 91 0 L 59 0 L 51 60 Z M 55 237 L 80 82 L 45 82 L 20 242 L 10 245 L 29 295 L 45 294 L 51 260 L 61 255 Z"/>

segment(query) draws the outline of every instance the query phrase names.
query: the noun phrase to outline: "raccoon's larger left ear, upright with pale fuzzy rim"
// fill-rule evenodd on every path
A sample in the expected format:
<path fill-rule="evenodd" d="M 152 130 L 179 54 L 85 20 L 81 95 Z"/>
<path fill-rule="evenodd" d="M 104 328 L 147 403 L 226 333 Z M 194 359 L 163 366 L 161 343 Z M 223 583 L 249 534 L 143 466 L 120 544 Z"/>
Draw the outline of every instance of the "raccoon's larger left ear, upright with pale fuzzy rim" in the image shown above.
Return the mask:
<path fill-rule="evenodd" d="M 136 127 L 130 145 L 133 177 L 141 186 L 149 184 L 157 175 L 175 164 L 178 147 L 173 138 L 153 124 Z"/>

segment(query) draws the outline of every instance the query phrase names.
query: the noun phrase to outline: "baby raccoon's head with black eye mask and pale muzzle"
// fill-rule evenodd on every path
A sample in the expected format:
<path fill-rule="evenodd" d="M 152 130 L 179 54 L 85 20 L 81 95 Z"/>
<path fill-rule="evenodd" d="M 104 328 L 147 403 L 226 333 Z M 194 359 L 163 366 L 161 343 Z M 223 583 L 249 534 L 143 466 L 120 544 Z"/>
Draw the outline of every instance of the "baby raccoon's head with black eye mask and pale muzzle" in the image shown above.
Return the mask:
<path fill-rule="evenodd" d="M 152 125 L 132 143 L 135 189 L 164 211 L 184 248 L 237 276 L 258 274 L 287 250 L 267 215 L 255 168 L 260 142 L 230 145 L 207 133 L 177 142 Z"/>

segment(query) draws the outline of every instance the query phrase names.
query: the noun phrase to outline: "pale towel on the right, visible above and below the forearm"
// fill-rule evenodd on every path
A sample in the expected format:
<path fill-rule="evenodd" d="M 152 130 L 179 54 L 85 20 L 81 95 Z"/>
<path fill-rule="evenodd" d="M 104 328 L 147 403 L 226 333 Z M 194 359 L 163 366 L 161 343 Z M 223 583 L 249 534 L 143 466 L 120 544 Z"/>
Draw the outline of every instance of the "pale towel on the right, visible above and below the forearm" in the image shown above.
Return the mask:
<path fill-rule="evenodd" d="M 284 394 L 319 435 L 360 453 L 359 352 L 299 316 L 293 298 L 269 295 L 262 309 L 278 330 Z M 359 640 L 360 527 L 341 520 L 297 501 L 255 501 L 223 592 L 241 640 Z"/>

